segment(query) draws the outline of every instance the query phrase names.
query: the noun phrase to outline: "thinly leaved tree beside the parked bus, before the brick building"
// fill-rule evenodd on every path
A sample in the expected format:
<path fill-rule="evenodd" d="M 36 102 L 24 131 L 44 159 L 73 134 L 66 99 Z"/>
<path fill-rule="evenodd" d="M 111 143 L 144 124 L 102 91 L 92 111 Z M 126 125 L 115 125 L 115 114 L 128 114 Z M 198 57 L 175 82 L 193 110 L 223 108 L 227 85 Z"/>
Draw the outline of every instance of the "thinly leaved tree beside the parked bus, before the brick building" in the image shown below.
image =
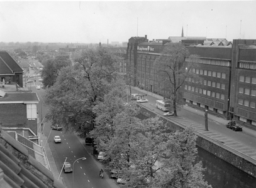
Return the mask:
<path fill-rule="evenodd" d="M 155 70 L 159 75 L 159 83 L 165 93 L 167 102 L 172 103 L 174 116 L 177 116 L 177 110 L 183 105 L 182 85 L 187 78 L 198 79 L 198 76 L 192 72 L 196 65 L 186 62 L 185 58 L 189 56 L 190 60 L 197 58 L 196 55 L 189 55 L 189 51 L 181 43 L 170 43 L 165 47 L 162 54 L 154 63 Z M 194 61 L 193 61 L 194 62 Z"/>

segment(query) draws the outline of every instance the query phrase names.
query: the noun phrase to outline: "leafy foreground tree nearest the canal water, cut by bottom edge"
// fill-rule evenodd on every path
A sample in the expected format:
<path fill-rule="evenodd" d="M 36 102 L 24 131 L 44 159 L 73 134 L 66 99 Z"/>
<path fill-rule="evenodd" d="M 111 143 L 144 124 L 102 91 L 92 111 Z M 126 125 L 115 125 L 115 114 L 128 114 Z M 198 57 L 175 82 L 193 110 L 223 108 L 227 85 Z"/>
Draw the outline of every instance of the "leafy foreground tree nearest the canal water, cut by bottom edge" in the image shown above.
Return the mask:
<path fill-rule="evenodd" d="M 169 137 L 166 148 L 166 157 L 161 160 L 161 167 L 151 187 L 161 188 L 197 188 L 211 187 L 203 180 L 201 162 L 195 164 L 196 138 L 191 127 L 182 132 L 176 132 Z"/>

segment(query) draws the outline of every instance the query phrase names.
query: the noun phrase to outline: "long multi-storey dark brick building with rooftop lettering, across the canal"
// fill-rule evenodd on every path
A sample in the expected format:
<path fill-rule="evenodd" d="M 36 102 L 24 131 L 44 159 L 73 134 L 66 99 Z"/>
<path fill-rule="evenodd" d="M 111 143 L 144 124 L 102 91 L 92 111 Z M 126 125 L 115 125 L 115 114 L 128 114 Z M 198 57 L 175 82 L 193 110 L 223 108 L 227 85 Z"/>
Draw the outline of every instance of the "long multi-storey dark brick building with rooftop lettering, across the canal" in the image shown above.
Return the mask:
<path fill-rule="evenodd" d="M 209 39 L 204 43 L 201 38 L 187 39 L 180 40 L 191 55 L 199 56 L 198 68 L 192 71 L 201 80 L 186 80 L 184 102 L 256 129 L 256 40 L 235 39 L 233 43 L 221 40 L 209 46 L 206 45 Z M 148 42 L 147 36 L 129 39 L 127 70 L 133 75 L 134 86 L 166 96 L 169 91 L 161 89 L 153 64 L 170 42 L 170 39 Z M 190 43 L 194 45 L 187 45 Z"/>

